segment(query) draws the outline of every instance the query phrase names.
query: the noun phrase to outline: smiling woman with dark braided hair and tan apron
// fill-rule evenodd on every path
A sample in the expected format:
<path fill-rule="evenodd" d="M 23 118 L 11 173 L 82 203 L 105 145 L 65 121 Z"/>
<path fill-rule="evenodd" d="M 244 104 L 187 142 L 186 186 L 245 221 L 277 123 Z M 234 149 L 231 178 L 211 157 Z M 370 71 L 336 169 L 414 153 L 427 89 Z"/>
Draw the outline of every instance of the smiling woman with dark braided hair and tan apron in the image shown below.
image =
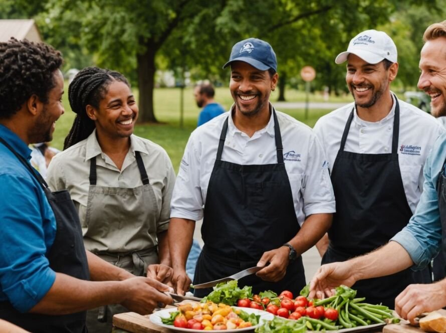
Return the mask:
<path fill-rule="evenodd" d="M 68 94 L 76 118 L 64 151 L 50 163 L 50 187 L 70 192 L 88 250 L 134 275 L 147 272 L 167 282 L 172 272 L 166 235 L 175 181 L 167 153 L 132 134 L 138 107 L 122 74 L 85 68 Z M 121 305 L 91 310 L 87 326 L 110 332 L 113 314 L 126 311 Z"/>

